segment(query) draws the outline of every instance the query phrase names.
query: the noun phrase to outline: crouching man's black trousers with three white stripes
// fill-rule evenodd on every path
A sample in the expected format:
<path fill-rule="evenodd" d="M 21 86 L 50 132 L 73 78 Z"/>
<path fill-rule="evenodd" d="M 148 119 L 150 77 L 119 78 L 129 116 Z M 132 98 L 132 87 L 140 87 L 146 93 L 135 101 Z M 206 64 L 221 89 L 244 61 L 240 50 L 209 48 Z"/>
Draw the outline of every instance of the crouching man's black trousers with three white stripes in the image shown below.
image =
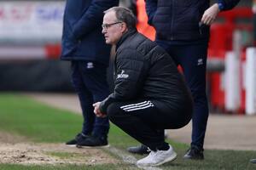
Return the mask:
<path fill-rule="evenodd" d="M 151 150 L 167 144 L 164 129 L 183 127 L 191 119 L 176 111 L 160 110 L 154 106 L 154 101 L 143 99 L 113 103 L 107 112 L 111 122 Z"/>

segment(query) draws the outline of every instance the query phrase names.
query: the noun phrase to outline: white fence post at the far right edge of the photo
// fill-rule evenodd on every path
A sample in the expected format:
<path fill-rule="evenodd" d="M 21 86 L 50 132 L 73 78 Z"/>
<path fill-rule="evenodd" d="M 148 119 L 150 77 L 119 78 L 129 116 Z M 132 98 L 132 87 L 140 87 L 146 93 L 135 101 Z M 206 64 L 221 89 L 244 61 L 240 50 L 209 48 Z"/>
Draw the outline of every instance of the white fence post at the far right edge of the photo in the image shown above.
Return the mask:
<path fill-rule="evenodd" d="M 256 114 L 256 48 L 246 51 L 246 114 Z"/>

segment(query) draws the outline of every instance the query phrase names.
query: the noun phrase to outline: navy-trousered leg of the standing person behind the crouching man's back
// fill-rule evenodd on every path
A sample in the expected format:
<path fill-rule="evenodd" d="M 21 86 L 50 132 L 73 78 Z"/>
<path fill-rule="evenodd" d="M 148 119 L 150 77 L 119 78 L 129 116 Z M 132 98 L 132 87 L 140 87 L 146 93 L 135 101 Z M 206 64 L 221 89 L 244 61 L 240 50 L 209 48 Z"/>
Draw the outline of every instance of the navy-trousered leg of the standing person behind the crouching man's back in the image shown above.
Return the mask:
<path fill-rule="evenodd" d="M 206 94 L 207 42 L 184 46 L 172 46 L 169 49 L 183 68 L 183 74 L 193 99 L 192 116 L 192 155 L 184 158 L 203 159 L 202 151 L 207 129 L 208 101 Z M 189 150 L 191 151 L 191 150 Z M 198 151 L 198 154 L 196 153 Z M 198 155 L 198 156 L 196 156 Z"/>

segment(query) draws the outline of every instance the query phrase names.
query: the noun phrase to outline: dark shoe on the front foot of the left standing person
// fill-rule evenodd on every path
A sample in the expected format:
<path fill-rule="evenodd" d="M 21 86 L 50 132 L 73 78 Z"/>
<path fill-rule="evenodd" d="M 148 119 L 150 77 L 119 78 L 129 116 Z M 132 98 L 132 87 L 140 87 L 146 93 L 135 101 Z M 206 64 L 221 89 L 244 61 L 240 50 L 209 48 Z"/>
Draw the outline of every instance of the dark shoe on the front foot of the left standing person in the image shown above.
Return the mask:
<path fill-rule="evenodd" d="M 96 138 L 90 136 L 89 138 L 79 141 L 77 144 L 78 148 L 91 148 L 91 147 L 108 147 L 107 138 Z"/>

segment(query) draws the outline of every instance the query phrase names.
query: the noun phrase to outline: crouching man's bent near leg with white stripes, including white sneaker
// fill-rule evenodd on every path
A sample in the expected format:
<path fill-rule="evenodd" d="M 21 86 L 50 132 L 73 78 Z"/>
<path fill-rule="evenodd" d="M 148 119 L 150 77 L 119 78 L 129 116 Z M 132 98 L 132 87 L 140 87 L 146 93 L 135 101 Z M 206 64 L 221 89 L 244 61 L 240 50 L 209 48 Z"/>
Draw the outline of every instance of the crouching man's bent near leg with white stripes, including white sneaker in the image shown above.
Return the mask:
<path fill-rule="evenodd" d="M 107 112 L 111 122 L 151 150 L 137 161 L 138 166 L 158 166 L 176 158 L 172 146 L 165 142 L 164 128 L 178 122 L 168 122 L 170 116 L 161 113 L 151 101 L 113 103 Z"/>

